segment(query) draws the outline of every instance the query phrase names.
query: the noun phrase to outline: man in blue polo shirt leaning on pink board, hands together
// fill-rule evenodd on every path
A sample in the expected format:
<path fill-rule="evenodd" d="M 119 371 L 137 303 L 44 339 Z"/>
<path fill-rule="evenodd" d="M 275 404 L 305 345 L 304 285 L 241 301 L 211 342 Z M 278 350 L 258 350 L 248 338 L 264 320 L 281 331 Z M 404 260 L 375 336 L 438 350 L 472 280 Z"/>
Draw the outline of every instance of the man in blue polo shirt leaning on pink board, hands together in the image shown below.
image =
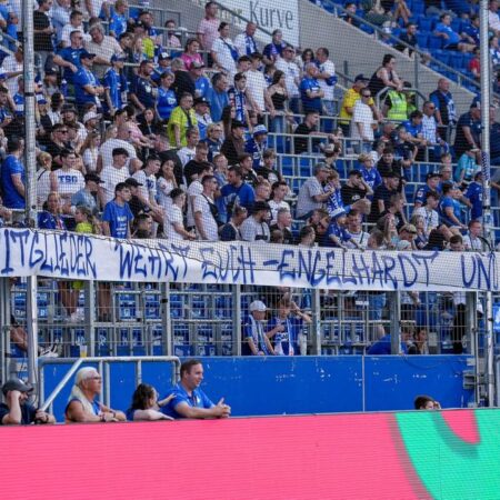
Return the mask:
<path fill-rule="evenodd" d="M 231 407 L 224 399 L 214 404 L 200 389 L 203 381 L 203 366 L 198 359 L 189 359 L 181 364 L 180 381 L 170 391 L 173 399 L 161 411 L 174 419 L 228 418 Z"/>

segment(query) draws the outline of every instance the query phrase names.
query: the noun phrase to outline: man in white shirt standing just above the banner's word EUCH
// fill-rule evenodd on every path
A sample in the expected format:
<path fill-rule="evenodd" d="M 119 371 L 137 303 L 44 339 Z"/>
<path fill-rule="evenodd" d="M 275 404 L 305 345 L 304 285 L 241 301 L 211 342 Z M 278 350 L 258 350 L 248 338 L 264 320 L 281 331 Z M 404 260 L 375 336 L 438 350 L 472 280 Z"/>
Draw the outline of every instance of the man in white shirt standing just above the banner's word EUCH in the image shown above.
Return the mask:
<path fill-rule="evenodd" d="M 214 176 L 204 176 L 201 180 L 203 192 L 194 198 L 194 224 L 200 240 L 219 241 L 217 207 L 213 196 L 219 188 Z"/>

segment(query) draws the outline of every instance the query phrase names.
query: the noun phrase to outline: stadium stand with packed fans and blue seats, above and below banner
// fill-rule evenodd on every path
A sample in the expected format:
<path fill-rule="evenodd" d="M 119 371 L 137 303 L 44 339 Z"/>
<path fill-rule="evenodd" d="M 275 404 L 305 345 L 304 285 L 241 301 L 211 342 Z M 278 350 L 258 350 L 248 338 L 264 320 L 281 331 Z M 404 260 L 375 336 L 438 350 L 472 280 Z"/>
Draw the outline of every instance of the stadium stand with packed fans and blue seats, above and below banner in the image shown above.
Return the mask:
<path fill-rule="evenodd" d="M 378 13 L 387 17 L 382 28 L 389 23 L 383 38 L 370 2 L 348 19 L 348 4 L 300 1 L 299 47 L 217 2 L 91 3 L 103 9 L 42 0 L 34 16 L 40 229 L 132 240 L 492 250 L 478 222 L 476 12 L 428 16 L 423 1 L 401 1 L 407 10 L 396 18 L 390 8 Z M 22 228 L 28 117 L 20 33 L 9 24 L 21 12 L 12 4 L 0 14 L 0 216 L 3 227 Z M 417 27 L 414 44 L 403 37 L 407 23 Z M 439 36 L 449 29 L 452 40 L 461 37 L 453 44 L 467 47 L 451 49 Z M 409 53 L 393 37 L 429 57 Z M 9 296 L 13 328 L 26 320 L 23 279 L 10 283 Z M 177 356 L 234 356 L 256 301 L 270 310 L 264 328 L 279 353 L 366 353 L 392 328 L 386 292 L 40 279 L 40 340 L 49 357 L 83 354 L 90 339 L 97 356 L 157 356 L 166 352 L 168 327 Z M 423 329 L 428 339 L 413 339 L 417 352 L 470 352 L 463 308 L 458 292 L 402 293 L 403 350 Z M 278 333 L 277 324 L 284 324 Z M 11 339 L 10 370 L 19 373 L 26 351 Z"/>

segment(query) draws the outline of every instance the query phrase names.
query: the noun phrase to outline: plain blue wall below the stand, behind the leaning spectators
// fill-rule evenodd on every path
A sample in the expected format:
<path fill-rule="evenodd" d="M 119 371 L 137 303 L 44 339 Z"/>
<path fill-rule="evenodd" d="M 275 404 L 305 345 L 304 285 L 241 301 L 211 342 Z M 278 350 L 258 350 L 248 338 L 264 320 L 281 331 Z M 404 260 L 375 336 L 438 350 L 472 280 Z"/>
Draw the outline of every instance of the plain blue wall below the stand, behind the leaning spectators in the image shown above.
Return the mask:
<path fill-rule="evenodd" d="M 429 393 L 443 408 L 467 408 L 473 391 L 463 389 L 466 356 L 201 358 L 203 390 L 213 400 L 224 397 L 234 416 L 409 410 L 417 394 Z M 69 364 L 42 361 L 43 393 L 48 397 Z M 142 363 L 142 381 L 160 394 L 170 387 L 170 367 Z M 110 364 L 111 406 L 126 410 L 134 388 L 131 363 Z M 68 386 L 53 403 L 63 420 Z"/>

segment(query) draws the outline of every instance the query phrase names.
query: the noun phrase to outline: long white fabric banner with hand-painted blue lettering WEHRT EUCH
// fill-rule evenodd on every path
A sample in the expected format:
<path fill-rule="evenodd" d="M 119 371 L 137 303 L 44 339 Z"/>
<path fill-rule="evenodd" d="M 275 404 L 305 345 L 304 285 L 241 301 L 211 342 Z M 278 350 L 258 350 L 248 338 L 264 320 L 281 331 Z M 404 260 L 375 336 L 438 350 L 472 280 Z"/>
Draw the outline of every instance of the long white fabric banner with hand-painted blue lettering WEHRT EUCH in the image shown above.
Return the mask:
<path fill-rule="evenodd" d="M 0 230 L 0 277 L 334 290 L 499 290 L 494 252 L 343 251 L 247 242 L 116 240 Z"/>

